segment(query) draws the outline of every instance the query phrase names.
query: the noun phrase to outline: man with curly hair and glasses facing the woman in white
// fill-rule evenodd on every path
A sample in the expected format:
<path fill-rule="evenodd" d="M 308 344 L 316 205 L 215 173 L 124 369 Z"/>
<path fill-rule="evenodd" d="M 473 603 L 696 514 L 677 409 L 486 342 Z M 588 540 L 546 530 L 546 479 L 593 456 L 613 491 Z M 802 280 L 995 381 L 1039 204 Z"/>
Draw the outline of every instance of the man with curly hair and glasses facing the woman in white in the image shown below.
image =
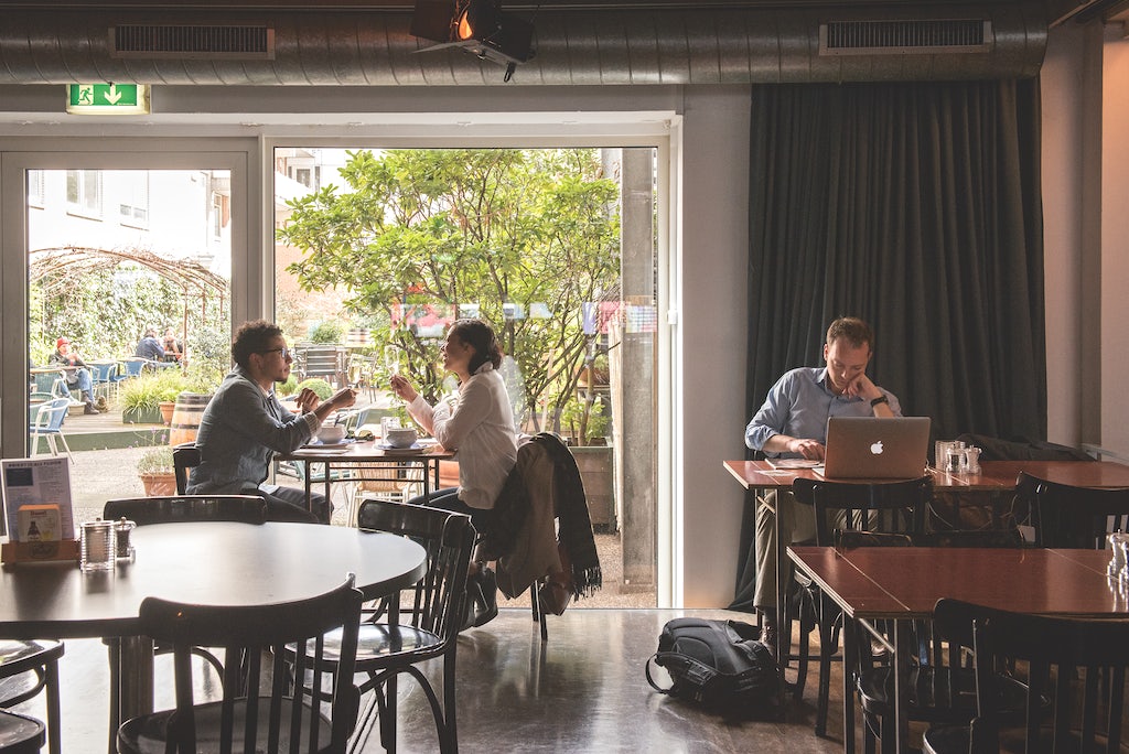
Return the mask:
<path fill-rule="evenodd" d="M 330 523 L 325 496 L 296 488 L 263 484 L 274 453 L 290 453 L 309 441 L 331 413 L 351 406 L 352 388 L 343 387 L 327 401 L 307 388 L 298 394 L 301 413 L 283 406 L 274 385 L 290 376 L 294 361 L 282 330 L 257 319 L 239 325 L 231 342 L 235 368 L 224 378 L 204 409 L 196 433 L 200 465 L 189 476 L 189 494 L 259 494 L 268 518 L 282 521 Z"/>

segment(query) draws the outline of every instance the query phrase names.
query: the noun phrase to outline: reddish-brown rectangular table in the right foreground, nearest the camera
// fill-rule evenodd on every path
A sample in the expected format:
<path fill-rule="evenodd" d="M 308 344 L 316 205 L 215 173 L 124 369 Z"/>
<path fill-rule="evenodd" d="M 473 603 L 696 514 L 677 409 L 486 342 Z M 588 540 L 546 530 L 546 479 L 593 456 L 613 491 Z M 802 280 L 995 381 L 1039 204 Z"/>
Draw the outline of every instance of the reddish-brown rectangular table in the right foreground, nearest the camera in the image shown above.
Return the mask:
<path fill-rule="evenodd" d="M 928 620 L 942 597 L 1040 615 L 1129 619 L 1117 579 L 1106 577 L 1101 550 L 992 547 L 816 547 L 793 545 L 788 556 L 842 610 L 878 635 L 874 622 L 892 621 L 898 746 L 908 751 L 909 625 Z M 855 748 L 857 657 L 854 632 L 843 632 L 843 751 Z"/>

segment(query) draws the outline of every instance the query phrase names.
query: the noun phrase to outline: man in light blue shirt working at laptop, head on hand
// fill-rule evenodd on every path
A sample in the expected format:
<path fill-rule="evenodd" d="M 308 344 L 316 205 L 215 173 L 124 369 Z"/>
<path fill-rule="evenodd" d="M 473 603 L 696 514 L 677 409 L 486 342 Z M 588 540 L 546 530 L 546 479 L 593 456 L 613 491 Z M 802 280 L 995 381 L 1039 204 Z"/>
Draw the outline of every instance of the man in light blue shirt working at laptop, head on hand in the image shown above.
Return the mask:
<path fill-rule="evenodd" d="M 785 458 L 822 461 L 830 417 L 900 417 L 893 393 L 866 376 L 874 353 L 874 333 L 857 317 L 840 317 L 828 327 L 826 367 L 786 372 L 769 391 L 764 405 L 745 428 L 745 445 Z M 776 512 L 773 512 L 773 510 Z M 774 518 L 779 517 L 779 521 Z M 815 536 L 815 516 L 791 492 L 769 492 L 756 507 L 756 590 L 753 605 L 762 615 L 762 641 L 776 654 L 777 538 L 785 545 Z M 791 582 L 791 569 L 781 582 Z"/>

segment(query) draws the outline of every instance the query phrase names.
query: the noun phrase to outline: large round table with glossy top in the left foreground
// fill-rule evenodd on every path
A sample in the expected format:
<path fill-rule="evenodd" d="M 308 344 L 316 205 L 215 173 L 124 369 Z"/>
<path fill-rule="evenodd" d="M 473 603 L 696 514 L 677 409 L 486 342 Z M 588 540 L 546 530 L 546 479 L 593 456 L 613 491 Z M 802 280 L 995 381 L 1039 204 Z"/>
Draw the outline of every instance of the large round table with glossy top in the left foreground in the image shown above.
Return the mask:
<path fill-rule="evenodd" d="M 73 561 L 0 568 L 0 638 L 121 639 L 120 719 L 152 711 L 152 643 L 138 637 L 146 597 L 266 605 L 314 597 L 355 573 L 365 598 L 376 599 L 411 586 L 426 568 L 417 543 L 343 526 L 156 524 L 130 540 L 134 556 L 111 571 L 84 572 Z M 115 720 L 111 726 L 113 736 Z"/>

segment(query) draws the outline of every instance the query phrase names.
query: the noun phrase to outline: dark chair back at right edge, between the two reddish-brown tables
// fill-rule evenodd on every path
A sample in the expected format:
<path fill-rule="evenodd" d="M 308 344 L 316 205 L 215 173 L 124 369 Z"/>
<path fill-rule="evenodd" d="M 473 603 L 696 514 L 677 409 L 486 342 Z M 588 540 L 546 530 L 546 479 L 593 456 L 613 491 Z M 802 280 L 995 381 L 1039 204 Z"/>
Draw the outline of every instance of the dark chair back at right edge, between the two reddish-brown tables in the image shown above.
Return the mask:
<path fill-rule="evenodd" d="M 1033 512 L 1039 547 L 1102 550 L 1106 533 L 1129 525 L 1129 488 L 1073 486 L 1019 472 L 1015 493 Z"/>

